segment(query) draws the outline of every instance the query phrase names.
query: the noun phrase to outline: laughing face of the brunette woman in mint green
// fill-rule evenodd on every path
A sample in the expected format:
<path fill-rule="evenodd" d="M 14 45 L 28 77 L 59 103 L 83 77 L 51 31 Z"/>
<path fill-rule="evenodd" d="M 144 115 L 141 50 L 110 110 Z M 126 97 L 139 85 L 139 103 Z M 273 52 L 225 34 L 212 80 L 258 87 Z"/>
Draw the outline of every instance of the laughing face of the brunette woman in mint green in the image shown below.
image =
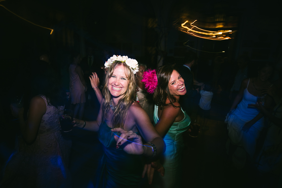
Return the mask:
<path fill-rule="evenodd" d="M 180 74 L 176 70 L 173 70 L 171 74 L 171 77 L 168 82 L 168 89 L 170 94 L 173 96 L 186 94 L 184 79 L 180 76 Z"/>

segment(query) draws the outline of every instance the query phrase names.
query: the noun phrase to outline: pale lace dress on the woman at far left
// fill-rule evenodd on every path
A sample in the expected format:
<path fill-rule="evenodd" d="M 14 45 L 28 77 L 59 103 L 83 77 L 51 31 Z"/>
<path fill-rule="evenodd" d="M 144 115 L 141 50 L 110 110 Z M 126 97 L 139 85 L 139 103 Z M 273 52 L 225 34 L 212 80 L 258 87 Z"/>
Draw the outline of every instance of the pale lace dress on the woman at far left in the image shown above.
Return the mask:
<path fill-rule="evenodd" d="M 72 142 L 60 132 L 58 111 L 63 106 L 49 106 L 45 100 L 36 140 L 13 153 L 5 164 L 0 187 L 71 187 L 68 170 Z"/>

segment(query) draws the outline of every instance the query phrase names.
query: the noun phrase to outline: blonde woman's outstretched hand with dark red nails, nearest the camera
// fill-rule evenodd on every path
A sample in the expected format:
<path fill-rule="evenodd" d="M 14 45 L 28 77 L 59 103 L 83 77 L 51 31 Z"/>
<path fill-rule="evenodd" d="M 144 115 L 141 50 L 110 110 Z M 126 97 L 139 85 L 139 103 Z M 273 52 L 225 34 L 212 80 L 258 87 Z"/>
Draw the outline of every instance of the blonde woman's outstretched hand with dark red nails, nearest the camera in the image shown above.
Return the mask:
<path fill-rule="evenodd" d="M 145 147 L 147 146 L 143 145 L 141 136 L 122 128 L 113 128 L 111 131 L 121 134 L 120 136 L 114 135 L 116 149 L 122 148 L 126 153 L 133 155 L 143 155 L 145 153 Z"/>

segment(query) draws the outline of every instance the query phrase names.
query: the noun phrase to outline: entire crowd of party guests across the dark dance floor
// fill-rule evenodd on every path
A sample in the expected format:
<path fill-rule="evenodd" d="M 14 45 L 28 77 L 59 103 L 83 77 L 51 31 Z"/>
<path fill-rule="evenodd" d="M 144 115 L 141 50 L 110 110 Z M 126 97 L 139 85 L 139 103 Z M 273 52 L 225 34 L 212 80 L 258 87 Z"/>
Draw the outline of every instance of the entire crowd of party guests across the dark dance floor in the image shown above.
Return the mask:
<path fill-rule="evenodd" d="M 37 68 L 41 71 L 30 80 L 27 114 L 24 108 L 10 105 L 21 135 L 17 151 L 3 168 L 0 187 L 72 186 L 68 169 L 72 141 L 62 134 L 58 119 L 58 112 L 69 108 L 73 127 L 98 132 L 103 145 L 94 187 L 138 187 L 145 176 L 152 187 L 181 187 L 183 133 L 194 128 L 192 113 L 203 120 L 200 131 L 208 130 L 224 58 L 215 58 L 214 76 L 204 83 L 196 80 L 193 68 L 198 57 L 193 52 L 186 53 L 182 64 L 154 70 L 108 53 L 104 54 L 107 61 L 97 64 L 93 48 L 87 53 L 82 59 L 77 52 L 71 54 L 67 89 L 48 55 L 40 56 Z M 251 164 L 262 173 L 278 175 L 282 77 L 272 79 L 274 65 L 269 62 L 258 66 L 256 77 L 249 77 L 249 61 L 247 56 L 238 57 L 239 70 L 228 91 L 233 104 L 225 120 L 229 138 L 224 164 L 237 169 Z M 86 105 L 97 109 L 96 120 L 84 120 Z M 257 147 L 264 127 L 264 144 Z"/>

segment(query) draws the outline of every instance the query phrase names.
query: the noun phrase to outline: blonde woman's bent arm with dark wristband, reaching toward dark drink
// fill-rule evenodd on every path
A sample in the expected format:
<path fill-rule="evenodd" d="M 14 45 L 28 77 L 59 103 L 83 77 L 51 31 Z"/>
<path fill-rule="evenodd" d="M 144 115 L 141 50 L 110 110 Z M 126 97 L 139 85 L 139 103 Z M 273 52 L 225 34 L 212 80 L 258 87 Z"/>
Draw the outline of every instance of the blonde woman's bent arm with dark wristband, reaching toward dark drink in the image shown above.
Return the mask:
<path fill-rule="evenodd" d="M 97 120 L 96 121 L 85 121 L 85 123 L 86 124 L 83 129 L 88 130 L 88 131 L 95 131 L 95 132 L 99 131 L 99 126 L 102 123 L 102 105 L 100 106 Z M 84 125 L 84 121 L 74 118 L 73 124 L 74 124 L 74 127 L 82 128 Z"/>

